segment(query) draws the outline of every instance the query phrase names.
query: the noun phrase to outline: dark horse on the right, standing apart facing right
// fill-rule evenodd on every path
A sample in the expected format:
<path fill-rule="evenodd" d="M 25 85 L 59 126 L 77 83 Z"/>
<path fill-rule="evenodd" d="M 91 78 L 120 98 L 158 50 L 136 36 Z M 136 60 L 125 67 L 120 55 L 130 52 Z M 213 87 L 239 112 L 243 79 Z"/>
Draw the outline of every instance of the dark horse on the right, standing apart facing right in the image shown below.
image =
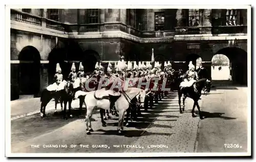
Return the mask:
<path fill-rule="evenodd" d="M 197 106 L 200 119 L 203 119 L 203 116 L 202 116 L 201 111 L 200 111 L 200 107 L 198 105 L 198 100 L 201 97 L 201 91 L 202 91 L 203 88 L 206 89 L 206 92 L 210 92 L 210 84 L 211 84 L 211 82 L 208 79 L 203 78 L 203 79 L 197 80 L 190 87 L 180 87 L 178 89 L 180 113 L 183 113 L 184 108 L 185 108 L 185 104 L 184 104 L 185 99 L 187 97 L 189 97 L 189 98 L 194 100 L 193 109 L 191 111 L 192 117 L 193 118 L 196 117 L 196 115 L 194 114 L 194 110 L 195 110 L 195 107 Z M 182 95 L 183 95 L 183 108 L 181 109 L 181 96 Z"/>

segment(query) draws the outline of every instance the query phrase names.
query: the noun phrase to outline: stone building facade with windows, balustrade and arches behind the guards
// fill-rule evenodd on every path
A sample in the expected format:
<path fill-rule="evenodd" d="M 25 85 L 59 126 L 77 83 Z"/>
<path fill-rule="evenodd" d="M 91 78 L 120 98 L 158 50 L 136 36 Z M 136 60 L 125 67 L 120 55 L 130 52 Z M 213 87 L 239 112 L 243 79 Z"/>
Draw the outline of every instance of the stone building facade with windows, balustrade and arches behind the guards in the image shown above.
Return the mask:
<path fill-rule="evenodd" d="M 247 9 L 11 9 L 10 43 L 16 96 L 40 96 L 57 62 L 67 77 L 72 62 L 92 71 L 119 55 L 150 61 L 152 49 L 183 70 L 201 57 L 209 73 L 212 57 L 224 54 L 234 82 L 247 84 Z"/>

